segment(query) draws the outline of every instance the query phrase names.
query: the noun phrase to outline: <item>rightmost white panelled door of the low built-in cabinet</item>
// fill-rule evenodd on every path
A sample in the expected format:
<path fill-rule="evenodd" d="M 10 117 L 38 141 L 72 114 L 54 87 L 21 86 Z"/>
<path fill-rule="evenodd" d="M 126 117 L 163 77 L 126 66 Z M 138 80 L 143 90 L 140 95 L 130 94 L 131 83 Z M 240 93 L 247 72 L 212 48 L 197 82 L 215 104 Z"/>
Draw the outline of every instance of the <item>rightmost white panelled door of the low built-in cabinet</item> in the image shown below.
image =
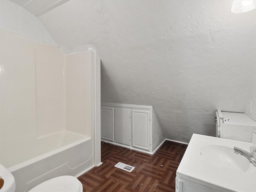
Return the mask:
<path fill-rule="evenodd" d="M 132 110 L 132 146 L 150 150 L 150 111 Z"/>

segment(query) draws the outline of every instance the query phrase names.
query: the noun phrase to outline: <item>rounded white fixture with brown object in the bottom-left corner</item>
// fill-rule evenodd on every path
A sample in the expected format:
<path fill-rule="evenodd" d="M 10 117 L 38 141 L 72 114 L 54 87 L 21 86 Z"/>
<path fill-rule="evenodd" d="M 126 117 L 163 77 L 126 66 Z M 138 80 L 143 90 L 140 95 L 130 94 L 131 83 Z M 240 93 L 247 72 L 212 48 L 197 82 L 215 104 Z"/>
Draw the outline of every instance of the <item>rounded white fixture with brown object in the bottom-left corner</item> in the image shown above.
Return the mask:
<path fill-rule="evenodd" d="M 16 188 L 14 176 L 1 164 L 0 176 L 4 180 L 4 186 L 0 189 L 0 192 L 14 192 Z"/>

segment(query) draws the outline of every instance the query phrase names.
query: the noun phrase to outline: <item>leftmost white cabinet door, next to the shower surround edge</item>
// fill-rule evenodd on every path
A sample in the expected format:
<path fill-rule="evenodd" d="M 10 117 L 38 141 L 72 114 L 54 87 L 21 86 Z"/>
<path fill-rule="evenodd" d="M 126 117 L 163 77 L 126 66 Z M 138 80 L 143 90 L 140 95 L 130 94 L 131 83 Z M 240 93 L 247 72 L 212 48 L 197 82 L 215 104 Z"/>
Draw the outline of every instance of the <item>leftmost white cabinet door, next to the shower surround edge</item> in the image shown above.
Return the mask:
<path fill-rule="evenodd" d="M 114 141 L 114 108 L 101 108 L 101 138 L 105 140 Z"/>

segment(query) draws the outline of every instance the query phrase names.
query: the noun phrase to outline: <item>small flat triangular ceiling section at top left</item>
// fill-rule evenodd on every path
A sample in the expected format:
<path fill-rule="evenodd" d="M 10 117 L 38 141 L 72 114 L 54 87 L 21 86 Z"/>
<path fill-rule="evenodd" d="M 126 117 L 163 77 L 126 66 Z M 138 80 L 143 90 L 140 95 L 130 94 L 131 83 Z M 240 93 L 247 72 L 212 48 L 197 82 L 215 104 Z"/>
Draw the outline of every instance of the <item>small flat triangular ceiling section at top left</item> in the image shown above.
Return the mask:
<path fill-rule="evenodd" d="M 22 6 L 27 11 L 32 13 L 34 16 L 40 16 L 68 2 L 69 0 L 10 0 L 10 1 Z"/>

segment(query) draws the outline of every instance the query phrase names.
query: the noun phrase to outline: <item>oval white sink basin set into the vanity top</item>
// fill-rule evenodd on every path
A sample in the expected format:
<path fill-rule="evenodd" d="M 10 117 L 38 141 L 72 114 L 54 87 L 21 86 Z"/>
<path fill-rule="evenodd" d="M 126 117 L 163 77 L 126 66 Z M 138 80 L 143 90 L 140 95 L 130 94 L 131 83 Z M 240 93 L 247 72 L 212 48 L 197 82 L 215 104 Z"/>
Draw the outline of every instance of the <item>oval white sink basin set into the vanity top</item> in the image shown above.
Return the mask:
<path fill-rule="evenodd" d="M 247 158 L 240 154 L 235 154 L 233 148 L 227 146 L 206 144 L 199 151 L 200 156 L 208 164 L 221 169 L 246 172 L 250 167 L 250 161 Z"/>

